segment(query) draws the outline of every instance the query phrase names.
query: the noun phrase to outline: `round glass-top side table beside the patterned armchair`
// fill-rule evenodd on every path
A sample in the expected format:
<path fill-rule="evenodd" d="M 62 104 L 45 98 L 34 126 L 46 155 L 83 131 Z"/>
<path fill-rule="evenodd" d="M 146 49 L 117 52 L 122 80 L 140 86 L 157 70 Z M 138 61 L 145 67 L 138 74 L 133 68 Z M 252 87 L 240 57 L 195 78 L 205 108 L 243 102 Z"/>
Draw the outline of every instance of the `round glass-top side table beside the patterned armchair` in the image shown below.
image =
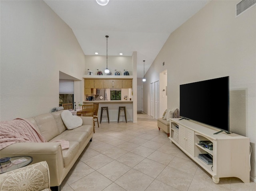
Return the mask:
<path fill-rule="evenodd" d="M 0 163 L 0 174 L 29 165 L 33 161 L 30 156 L 14 156 Z"/>

